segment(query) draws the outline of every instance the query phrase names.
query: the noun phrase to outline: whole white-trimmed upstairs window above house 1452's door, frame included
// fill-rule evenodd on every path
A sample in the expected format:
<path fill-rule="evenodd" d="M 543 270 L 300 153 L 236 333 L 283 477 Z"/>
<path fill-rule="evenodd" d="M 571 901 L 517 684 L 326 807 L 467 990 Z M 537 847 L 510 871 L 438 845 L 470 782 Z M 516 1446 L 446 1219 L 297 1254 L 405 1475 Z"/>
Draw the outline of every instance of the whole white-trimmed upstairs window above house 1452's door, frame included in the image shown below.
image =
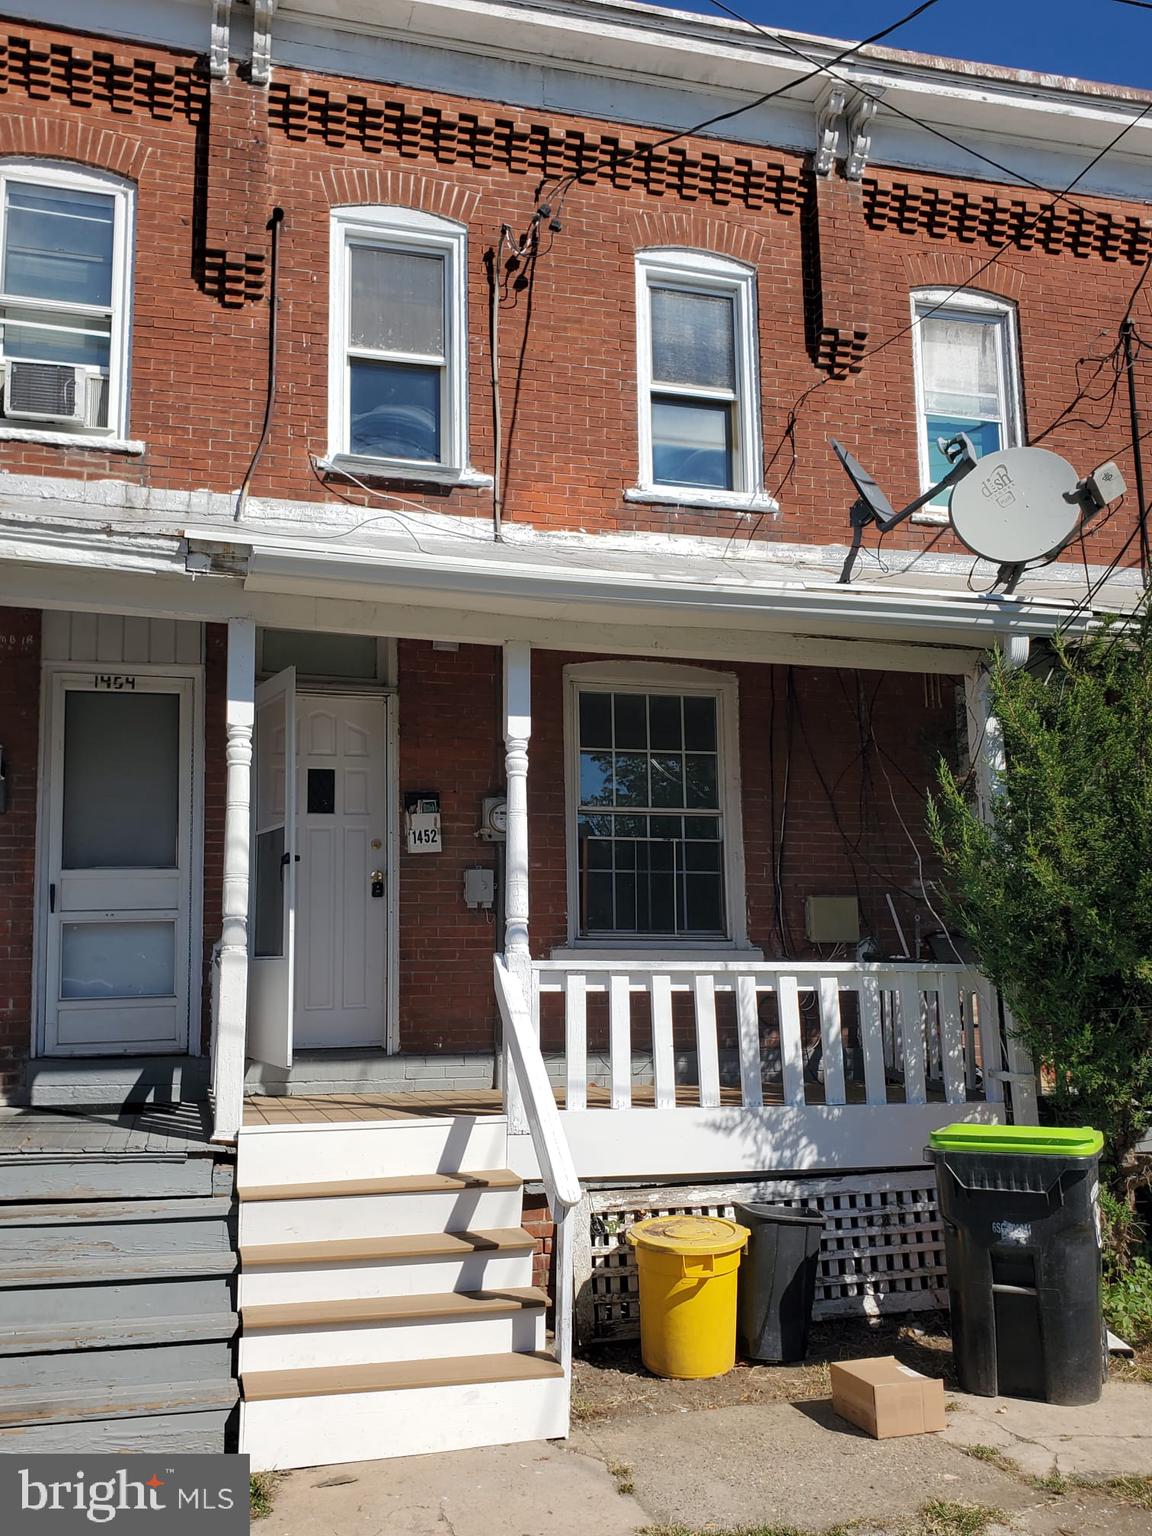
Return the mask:
<path fill-rule="evenodd" d="M 332 215 L 332 459 L 467 465 L 465 230 L 404 207 Z"/>

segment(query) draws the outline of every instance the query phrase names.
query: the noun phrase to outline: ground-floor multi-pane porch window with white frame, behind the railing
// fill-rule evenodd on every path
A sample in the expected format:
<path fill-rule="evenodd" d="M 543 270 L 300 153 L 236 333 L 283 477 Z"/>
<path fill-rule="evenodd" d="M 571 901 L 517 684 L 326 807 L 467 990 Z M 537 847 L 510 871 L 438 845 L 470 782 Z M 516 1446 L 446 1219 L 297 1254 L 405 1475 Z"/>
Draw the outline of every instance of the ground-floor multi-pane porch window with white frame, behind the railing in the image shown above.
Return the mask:
<path fill-rule="evenodd" d="M 571 938 L 743 942 L 736 680 L 568 668 Z"/>

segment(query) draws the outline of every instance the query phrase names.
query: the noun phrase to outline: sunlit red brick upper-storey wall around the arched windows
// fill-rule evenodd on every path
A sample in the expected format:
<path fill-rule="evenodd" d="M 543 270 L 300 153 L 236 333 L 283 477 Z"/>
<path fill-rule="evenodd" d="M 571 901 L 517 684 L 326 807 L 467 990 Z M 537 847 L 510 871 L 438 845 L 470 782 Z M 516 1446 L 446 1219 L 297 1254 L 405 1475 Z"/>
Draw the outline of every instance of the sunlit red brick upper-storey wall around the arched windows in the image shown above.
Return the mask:
<path fill-rule="evenodd" d="M 829 435 L 856 447 L 894 499 L 917 488 L 911 339 L 900 336 L 860 372 L 834 379 L 813 355 L 859 361 L 908 324 L 912 286 L 971 278 L 1018 303 L 1026 422 L 1037 432 L 1072 399 L 1075 361 L 1115 336 L 1149 250 L 1146 210 L 1135 204 L 1078 197 L 1077 207 L 1061 204 L 1032 227 L 1032 210 L 1043 206 L 1037 194 L 888 170 L 869 170 L 860 189 L 825 187 L 817 201 L 800 157 L 739 141 L 684 140 L 613 170 L 611 146 L 627 152 L 645 140 L 642 131 L 290 69 L 276 71 L 267 94 L 240 80 L 209 86 L 190 57 L 126 43 L 111 46 L 123 66 L 112 78 L 92 63 L 91 38 L 18 23 L 0 46 L 8 54 L 0 152 L 106 166 L 138 186 L 131 430 L 147 441 L 141 459 L 3 444 L 0 462 L 14 470 L 233 488 L 260 433 L 264 220 L 280 204 L 281 390 L 253 488 L 370 499 L 344 482 L 321 490 L 309 461 L 327 449 L 329 210 L 364 201 L 467 223 L 472 449 L 475 462 L 492 468 L 484 252 L 501 224 L 525 227 L 542 174 L 602 164 L 571 189 L 564 227 L 545 235 L 535 267 L 507 273 L 505 516 L 541 527 L 842 541 L 849 495 Z M 1009 233 L 1015 244 L 982 272 Z M 633 255 L 654 244 L 756 264 L 768 484 L 786 479 L 776 521 L 622 499 L 636 479 Z M 1146 389 L 1152 358 L 1140 370 Z M 790 442 L 790 407 L 813 386 Z M 1123 442 L 1123 410 L 1112 406 L 1072 412 L 1048 444 L 1089 468 Z M 407 493 L 436 510 L 490 513 L 487 492 Z M 1109 558 L 1130 528 L 1130 508 L 1117 513 L 1091 536 L 1091 554 Z M 911 525 L 889 542 L 929 539 L 955 548 Z"/>

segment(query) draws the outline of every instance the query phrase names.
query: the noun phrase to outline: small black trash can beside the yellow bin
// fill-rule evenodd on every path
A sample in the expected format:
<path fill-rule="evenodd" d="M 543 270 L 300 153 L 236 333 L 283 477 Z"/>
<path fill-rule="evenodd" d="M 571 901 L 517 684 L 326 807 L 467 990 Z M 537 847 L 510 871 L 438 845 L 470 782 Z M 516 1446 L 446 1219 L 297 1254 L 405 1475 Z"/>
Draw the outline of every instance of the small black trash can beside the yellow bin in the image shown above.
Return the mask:
<path fill-rule="evenodd" d="M 808 1353 L 823 1217 L 791 1206 L 736 1206 L 748 1227 L 740 1264 L 736 1341 L 745 1359 L 783 1364 Z"/>

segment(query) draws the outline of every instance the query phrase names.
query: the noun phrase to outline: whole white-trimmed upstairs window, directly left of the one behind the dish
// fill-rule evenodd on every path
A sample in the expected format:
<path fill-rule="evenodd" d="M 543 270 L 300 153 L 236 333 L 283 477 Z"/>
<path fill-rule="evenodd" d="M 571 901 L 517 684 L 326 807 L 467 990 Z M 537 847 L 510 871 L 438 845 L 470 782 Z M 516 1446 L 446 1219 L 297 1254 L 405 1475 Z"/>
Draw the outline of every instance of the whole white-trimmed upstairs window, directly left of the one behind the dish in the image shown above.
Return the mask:
<path fill-rule="evenodd" d="M 641 490 L 763 492 L 756 273 L 691 250 L 636 258 Z"/>

